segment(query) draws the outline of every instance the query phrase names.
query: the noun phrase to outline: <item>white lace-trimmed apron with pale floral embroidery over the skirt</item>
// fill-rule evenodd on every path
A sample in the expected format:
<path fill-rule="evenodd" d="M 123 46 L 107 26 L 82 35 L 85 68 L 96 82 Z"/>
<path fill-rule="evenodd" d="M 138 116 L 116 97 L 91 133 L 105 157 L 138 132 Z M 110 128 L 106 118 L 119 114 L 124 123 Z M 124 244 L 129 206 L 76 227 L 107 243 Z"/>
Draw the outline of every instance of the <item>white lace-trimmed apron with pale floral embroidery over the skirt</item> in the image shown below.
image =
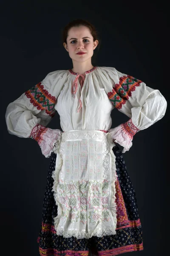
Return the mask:
<path fill-rule="evenodd" d="M 57 235 L 89 239 L 116 234 L 114 145 L 110 134 L 99 130 L 62 133 L 52 174 Z"/>

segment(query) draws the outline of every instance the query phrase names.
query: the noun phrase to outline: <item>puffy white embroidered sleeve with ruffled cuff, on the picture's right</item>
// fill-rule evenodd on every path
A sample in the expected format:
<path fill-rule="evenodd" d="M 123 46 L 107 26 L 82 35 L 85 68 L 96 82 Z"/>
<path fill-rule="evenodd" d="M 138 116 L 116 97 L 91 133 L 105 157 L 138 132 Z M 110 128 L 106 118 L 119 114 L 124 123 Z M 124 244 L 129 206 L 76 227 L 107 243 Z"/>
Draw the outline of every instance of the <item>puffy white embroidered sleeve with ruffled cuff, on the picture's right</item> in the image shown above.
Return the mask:
<path fill-rule="evenodd" d="M 157 89 L 148 87 L 143 81 L 108 68 L 107 94 L 118 111 L 130 119 L 109 129 L 111 137 L 122 145 L 123 153 L 132 146 L 133 136 L 159 121 L 165 114 L 167 101 Z"/>

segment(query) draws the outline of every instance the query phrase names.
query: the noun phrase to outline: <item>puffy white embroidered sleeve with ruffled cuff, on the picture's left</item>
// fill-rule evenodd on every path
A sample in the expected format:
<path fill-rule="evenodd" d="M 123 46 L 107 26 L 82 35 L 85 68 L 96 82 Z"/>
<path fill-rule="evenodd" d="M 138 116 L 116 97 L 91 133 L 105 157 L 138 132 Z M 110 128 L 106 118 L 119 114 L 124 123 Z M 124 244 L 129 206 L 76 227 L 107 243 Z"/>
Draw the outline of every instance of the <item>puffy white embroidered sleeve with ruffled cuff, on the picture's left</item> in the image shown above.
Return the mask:
<path fill-rule="evenodd" d="M 6 109 L 6 125 L 9 134 L 31 138 L 38 142 L 45 157 L 57 149 L 61 133 L 46 125 L 54 117 L 57 97 L 65 81 L 64 70 L 49 73 L 45 79 L 24 92 Z"/>

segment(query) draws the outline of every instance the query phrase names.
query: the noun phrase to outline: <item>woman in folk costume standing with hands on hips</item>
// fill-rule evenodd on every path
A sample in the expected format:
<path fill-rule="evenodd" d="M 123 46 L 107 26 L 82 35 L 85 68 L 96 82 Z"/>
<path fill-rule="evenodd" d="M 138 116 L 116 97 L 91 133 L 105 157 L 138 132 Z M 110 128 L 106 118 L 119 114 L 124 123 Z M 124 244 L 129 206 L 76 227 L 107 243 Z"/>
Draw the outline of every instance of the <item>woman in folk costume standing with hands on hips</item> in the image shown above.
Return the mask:
<path fill-rule="evenodd" d="M 143 81 L 91 64 L 99 39 L 88 21 L 71 21 L 63 41 L 73 68 L 49 73 L 6 110 L 8 132 L 36 140 L 42 154 L 51 156 L 37 239 L 40 255 L 143 250 L 122 152 L 137 132 L 164 116 L 167 102 Z M 113 108 L 129 120 L 111 129 Z M 46 127 L 56 111 L 62 131 Z"/>

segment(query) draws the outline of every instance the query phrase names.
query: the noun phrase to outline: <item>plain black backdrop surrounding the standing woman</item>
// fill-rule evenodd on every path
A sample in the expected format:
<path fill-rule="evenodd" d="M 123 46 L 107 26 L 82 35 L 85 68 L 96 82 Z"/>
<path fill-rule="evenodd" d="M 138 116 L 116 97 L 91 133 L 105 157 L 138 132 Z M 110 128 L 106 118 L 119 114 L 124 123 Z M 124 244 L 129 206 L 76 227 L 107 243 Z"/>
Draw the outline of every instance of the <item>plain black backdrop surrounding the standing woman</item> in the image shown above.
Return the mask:
<path fill-rule="evenodd" d="M 54 70 L 72 68 L 61 31 L 73 19 L 89 20 L 102 44 L 96 65 L 158 89 L 169 100 L 168 8 L 163 1 L 1 1 L 1 246 L 3 255 L 38 256 L 49 158 L 36 141 L 8 134 L 7 105 Z M 136 191 L 144 250 L 128 255 L 167 255 L 169 225 L 169 108 L 140 131 L 123 154 Z M 112 126 L 129 118 L 116 109 Z M 48 125 L 61 129 L 58 113 Z M 122 149 L 122 147 L 120 146 Z M 2 240 L 3 239 L 3 240 Z"/>

